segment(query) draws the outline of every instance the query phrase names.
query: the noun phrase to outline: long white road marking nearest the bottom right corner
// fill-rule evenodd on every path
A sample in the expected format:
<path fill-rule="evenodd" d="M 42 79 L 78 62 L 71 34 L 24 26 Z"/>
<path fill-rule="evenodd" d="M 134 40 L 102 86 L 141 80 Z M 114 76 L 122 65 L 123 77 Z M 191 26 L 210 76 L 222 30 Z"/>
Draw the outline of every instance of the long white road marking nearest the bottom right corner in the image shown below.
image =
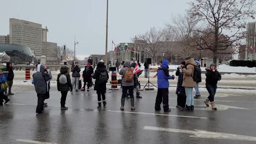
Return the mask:
<path fill-rule="evenodd" d="M 204 130 L 190 131 L 190 130 L 171 129 L 171 128 L 164 128 L 164 127 L 155 127 L 155 126 L 144 126 L 143 129 L 144 130 L 153 130 L 153 131 L 193 134 L 193 135 L 190 135 L 190 137 L 193 137 L 193 138 L 256 141 L 256 137 L 251 137 L 251 136 L 247 136 L 247 135 L 221 133 L 221 132 L 210 132 L 210 131 L 204 131 Z"/>

